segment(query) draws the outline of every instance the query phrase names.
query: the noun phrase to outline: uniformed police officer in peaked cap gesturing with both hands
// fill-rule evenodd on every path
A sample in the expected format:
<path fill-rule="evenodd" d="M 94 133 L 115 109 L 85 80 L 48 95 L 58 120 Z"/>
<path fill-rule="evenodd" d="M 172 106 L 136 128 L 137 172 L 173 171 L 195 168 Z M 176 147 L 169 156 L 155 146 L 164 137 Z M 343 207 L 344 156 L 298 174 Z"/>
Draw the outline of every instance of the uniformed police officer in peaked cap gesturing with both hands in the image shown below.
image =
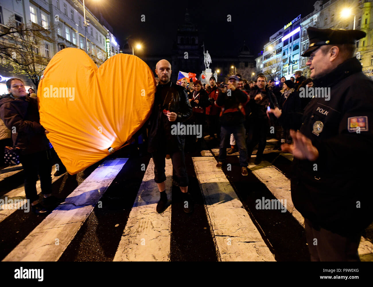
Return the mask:
<path fill-rule="evenodd" d="M 310 57 L 314 87 L 322 89 L 298 117 L 293 143 L 282 145 L 294 155 L 292 200 L 304 217 L 311 261 L 359 261 L 361 234 L 373 221 L 373 81 L 354 57 L 355 41 L 366 33 L 313 27 L 307 33 L 302 56 Z M 297 118 L 278 108 L 269 113 L 282 122 Z"/>

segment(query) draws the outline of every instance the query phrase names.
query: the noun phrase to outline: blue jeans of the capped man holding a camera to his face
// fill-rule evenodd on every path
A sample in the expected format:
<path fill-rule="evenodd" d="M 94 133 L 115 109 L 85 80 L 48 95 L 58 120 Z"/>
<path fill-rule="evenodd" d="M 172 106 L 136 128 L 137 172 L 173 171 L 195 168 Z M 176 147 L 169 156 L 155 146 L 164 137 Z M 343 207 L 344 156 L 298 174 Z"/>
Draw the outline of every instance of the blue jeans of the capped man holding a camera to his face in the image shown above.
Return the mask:
<path fill-rule="evenodd" d="M 239 164 L 243 167 L 247 167 L 247 148 L 245 143 L 245 127 L 244 124 L 238 124 L 236 126 L 222 126 L 220 130 L 220 146 L 219 146 L 219 157 L 218 161 L 225 161 L 227 158 L 227 146 L 231 138 L 231 133 L 236 140 L 236 145 L 239 151 Z"/>

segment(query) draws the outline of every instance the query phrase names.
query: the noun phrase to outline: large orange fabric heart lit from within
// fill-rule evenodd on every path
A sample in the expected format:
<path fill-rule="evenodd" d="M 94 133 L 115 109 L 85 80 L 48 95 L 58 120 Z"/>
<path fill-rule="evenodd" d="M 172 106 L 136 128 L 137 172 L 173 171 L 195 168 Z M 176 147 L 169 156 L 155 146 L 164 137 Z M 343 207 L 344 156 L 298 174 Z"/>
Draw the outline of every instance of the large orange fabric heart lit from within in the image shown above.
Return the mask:
<path fill-rule="evenodd" d="M 100 66 L 66 48 L 48 63 L 38 86 L 40 123 L 70 174 L 117 150 L 146 122 L 156 82 L 136 56 L 117 54 Z"/>

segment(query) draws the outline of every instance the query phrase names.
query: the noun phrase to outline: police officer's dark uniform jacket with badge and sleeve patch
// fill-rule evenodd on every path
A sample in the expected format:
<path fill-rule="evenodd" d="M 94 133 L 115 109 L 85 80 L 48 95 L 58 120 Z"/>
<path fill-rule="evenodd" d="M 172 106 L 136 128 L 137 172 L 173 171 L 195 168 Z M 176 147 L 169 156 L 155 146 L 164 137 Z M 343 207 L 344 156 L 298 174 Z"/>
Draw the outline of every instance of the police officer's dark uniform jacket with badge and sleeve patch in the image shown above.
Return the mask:
<path fill-rule="evenodd" d="M 354 57 L 313 82 L 330 88 L 330 100 L 314 97 L 305 107 L 300 132 L 319 157 L 294 158 L 292 201 L 315 226 L 360 233 L 373 220 L 373 81 Z"/>

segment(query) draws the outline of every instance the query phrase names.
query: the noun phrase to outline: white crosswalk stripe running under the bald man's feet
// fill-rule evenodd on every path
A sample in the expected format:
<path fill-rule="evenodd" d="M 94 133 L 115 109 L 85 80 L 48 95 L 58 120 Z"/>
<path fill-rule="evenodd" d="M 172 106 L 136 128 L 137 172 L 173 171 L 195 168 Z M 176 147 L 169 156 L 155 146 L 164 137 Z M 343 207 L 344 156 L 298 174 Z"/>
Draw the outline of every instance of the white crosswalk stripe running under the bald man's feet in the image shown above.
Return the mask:
<path fill-rule="evenodd" d="M 171 161 L 166 161 L 165 173 L 170 202 L 171 192 L 167 189 L 171 186 Z M 159 198 L 151 158 L 113 261 L 170 261 L 171 206 L 159 214 L 156 211 Z"/>

